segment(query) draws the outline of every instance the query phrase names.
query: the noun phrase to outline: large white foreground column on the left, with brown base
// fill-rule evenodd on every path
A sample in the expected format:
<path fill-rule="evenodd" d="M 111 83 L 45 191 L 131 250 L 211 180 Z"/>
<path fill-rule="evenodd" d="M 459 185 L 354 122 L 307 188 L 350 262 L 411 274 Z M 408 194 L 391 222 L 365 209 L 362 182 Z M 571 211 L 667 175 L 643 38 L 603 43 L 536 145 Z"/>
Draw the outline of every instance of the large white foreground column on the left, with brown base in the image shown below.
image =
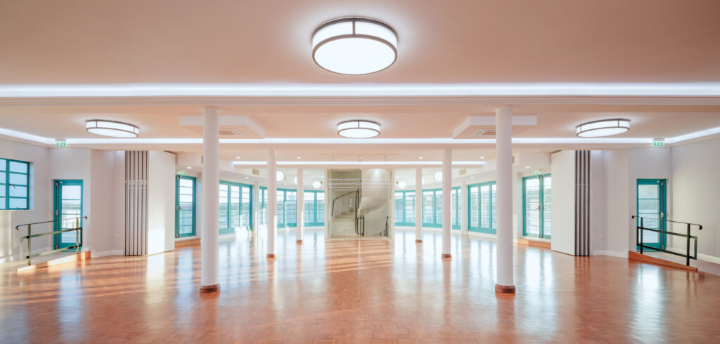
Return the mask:
<path fill-rule="evenodd" d="M 200 292 L 220 289 L 218 245 L 220 236 L 220 113 L 205 108 L 202 126 L 202 274 Z"/>

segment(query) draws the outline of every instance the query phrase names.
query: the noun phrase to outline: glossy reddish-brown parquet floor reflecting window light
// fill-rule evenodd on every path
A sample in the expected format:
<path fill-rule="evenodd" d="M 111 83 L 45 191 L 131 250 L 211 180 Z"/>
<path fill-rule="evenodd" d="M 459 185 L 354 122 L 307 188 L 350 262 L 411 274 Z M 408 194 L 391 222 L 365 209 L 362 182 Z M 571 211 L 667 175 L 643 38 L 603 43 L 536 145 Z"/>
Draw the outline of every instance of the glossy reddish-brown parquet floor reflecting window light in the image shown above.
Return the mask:
<path fill-rule="evenodd" d="M 279 233 L 220 243 L 219 294 L 200 248 L 0 274 L 0 342 L 503 343 L 720 341 L 720 276 L 516 248 L 516 296 L 495 295 L 495 242 Z"/>

